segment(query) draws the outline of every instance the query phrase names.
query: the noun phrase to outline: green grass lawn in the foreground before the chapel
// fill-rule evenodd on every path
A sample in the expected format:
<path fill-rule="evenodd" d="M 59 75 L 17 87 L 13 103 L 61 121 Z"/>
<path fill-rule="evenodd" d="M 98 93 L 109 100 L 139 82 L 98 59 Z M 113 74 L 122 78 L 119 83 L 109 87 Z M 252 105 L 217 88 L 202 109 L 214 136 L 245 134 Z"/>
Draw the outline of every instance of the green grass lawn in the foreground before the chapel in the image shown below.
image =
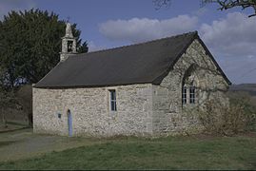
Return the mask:
<path fill-rule="evenodd" d="M 116 138 L 52 152 L 0 169 L 256 169 L 256 138 Z"/>

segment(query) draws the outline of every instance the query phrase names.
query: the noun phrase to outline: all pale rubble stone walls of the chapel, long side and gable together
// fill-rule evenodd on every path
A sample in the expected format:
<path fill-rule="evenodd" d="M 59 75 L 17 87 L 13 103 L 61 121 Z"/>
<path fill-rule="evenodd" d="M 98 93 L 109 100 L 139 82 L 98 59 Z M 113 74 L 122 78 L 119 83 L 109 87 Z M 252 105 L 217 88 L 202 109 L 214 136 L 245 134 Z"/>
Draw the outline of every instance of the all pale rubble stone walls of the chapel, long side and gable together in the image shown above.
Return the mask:
<path fill-rule="evenodd" d="M 196 87 L 195 104 L 182 104 L 182 86 L 191 80 Z M 69 109 L 74 136 L 197 133 L 202 130 L 198 109 L 209 99 L 227 104 L 227 87 L 204 47 L 194 40 L 161 85 L 33 87 L 34 132 L 69 135 Z M 115 112 L 109 110 L 109 89 L 116 90 Z M 188 91 L 187 96 L 189 101 Z"/>

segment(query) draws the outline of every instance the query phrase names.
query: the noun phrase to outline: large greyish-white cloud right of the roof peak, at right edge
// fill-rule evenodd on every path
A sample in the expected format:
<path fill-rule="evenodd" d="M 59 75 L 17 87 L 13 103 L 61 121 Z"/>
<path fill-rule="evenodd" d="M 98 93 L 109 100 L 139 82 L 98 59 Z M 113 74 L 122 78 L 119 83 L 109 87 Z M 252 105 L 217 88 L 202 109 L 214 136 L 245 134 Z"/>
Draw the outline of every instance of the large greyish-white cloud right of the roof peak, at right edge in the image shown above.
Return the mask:
<path fill-rule="evenodd" d="M 256 55 L 256 19 L 243 13 L 228 13 L 211 25 L 203 24 L 200 33 L 209 47 L 225 54 Z"/>

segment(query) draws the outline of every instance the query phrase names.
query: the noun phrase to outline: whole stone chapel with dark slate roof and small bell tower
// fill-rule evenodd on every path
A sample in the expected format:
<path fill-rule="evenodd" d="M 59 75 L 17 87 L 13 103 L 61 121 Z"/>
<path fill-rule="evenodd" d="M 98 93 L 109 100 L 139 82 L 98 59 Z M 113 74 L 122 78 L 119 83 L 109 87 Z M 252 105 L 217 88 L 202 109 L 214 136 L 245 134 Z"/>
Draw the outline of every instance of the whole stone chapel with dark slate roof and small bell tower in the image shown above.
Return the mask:
<path fill-rule="evenodd" d="M 196 111 L 226 103 L 230 81 L 197 31 L 89 53 L 68 23 L 60 62 L 33 85 L 33 130 L 65 136 L 160 136 L 202 129 Z"/>

